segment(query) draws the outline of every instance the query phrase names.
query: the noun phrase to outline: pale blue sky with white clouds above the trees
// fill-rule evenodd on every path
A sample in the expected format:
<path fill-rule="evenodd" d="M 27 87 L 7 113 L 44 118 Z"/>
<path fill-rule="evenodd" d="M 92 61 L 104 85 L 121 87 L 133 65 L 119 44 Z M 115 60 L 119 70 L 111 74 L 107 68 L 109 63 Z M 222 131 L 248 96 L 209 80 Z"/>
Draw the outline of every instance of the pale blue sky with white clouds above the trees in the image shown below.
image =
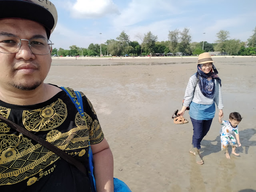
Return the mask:
<path fill-rule="evenodd" d="M 50 38 L 54 48 L 88 48 L 91 43 L 116 39 L 123 30 L 139 43 L 136 35 L 148 31 L 157 35 L 158 41 L 166 41 L 169 31 L 185 27 L 190 29 L 192 42 L 204 39 L 213 43 L 219 30 L 228 30 L 230 39 L 246 41 L 256 26 L 255 0 L 51 1 L 58 11 Z"/>

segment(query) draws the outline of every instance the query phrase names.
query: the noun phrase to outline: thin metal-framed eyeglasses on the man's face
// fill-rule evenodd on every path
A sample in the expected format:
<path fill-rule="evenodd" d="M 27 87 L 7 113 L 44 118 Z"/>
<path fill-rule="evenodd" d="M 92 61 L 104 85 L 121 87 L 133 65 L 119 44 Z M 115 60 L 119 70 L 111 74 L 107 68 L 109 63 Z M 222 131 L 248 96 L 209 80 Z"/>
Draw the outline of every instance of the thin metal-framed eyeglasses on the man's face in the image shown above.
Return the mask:
<path fill-rule="evenodd" d="M 50 53 L 53 43 L 46 38 L 20 39 L 12 35 L 0 35 L 0 52 L 17 53 L 20 50 L 21 41 L 28 41 L 28 47 L 36 55 L 47 55 Z"/>

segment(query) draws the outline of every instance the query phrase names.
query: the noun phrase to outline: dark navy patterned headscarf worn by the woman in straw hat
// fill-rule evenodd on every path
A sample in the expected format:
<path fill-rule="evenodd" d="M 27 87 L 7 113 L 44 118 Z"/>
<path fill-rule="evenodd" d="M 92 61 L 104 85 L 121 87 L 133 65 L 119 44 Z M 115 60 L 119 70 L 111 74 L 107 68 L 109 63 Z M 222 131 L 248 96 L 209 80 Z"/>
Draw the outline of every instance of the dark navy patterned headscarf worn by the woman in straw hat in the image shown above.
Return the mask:
<path fill-rule="evenodd" d="M 218 77 L 218 71 L 216 69 L 216 67 L 214 66 L 214 64 L 212 64 L 212 70 L 206 74 L 202 71 L 202 68 L 200 66 L 200 64 L 197 65 L 197 73 L 196 76 L 198 76 L 199 74 L 199 87 L 200 90 L 202 92 L 202 94 L 204 96 L 206 96 L 207 98 L 214 98 L 214 94 L 215 94 L 215 83 L 214 83 L 214 79 L 216 79 L 221 86 L 221 80 Z M 207 78 L 212 78 L 212 81 L 208 81 Z M 212 86 L 213 83 L 213 86 Z"/>

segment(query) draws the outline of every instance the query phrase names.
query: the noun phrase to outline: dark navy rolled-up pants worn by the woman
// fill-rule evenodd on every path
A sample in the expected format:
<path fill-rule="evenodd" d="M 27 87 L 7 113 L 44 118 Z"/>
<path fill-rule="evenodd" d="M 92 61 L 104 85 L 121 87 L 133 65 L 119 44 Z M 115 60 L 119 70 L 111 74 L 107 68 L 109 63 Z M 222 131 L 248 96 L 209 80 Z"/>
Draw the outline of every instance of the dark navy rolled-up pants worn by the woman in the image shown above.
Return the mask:
<path fill-rule="evenodd" d="M 210 120 L 196 120 L 191 118 L 191 122 L 193 124 L 193 130 L 194 130 L 194 134 L 193 134 L 193 138 L 192 138 L 192 144 L 194 147 L 200 149 L 200 143 L 202 141 L 202 139 L 204 138 L 204 136 L 206 136 L 206 134 L 208 133 L 210 126 L 212 124 L 212 119 Z"/>

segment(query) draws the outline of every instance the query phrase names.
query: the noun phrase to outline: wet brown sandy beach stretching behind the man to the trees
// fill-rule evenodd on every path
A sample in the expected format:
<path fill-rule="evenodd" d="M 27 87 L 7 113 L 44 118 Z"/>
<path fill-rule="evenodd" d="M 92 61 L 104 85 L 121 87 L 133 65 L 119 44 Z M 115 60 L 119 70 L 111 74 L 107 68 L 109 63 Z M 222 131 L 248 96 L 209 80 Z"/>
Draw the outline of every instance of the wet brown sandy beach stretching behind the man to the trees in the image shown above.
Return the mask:
<path fill-rule="evenodd" d="M 256 57 L 214 56 L 224 118 L 240 112 L 240 157 L 221 151 L 218 110 L 198 165 L 193 127 L 174 124 L 198 57 L 52 58 L 46 83 L 80 90 L 92 102 L 114 156 L 114 177 L 132 192 L 256 192 Z M 217 109 L 217 108 L 216 108 Z M 231 152 L 231 148 L 230 148 Z"/>

